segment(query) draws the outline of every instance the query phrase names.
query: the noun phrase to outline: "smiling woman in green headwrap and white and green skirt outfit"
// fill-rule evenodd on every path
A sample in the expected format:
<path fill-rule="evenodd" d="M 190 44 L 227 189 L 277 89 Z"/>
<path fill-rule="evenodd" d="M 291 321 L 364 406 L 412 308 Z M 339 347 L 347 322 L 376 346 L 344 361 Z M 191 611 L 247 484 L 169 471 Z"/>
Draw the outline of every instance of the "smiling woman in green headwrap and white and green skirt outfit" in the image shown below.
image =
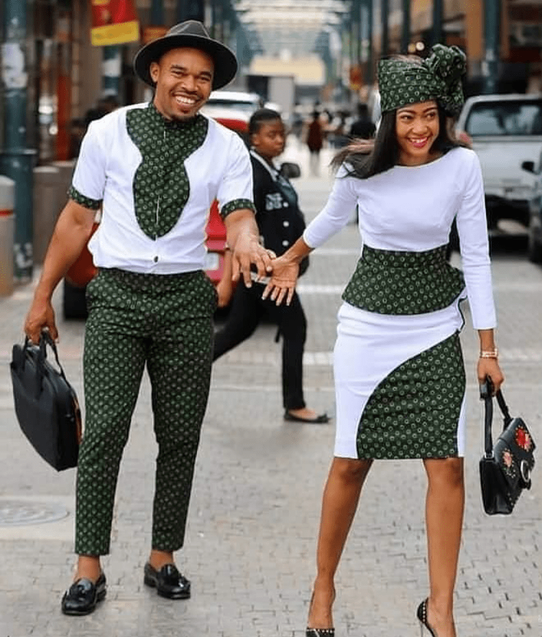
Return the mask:
<path fill-rule="evenodd" d="M 433 637 L 456 637 L 465 453 L 459 302 L 465 297 L 480 337 L 478 379 L 490 376 L 495 389 L 504 380 L 493 337 L 480 165 L 447 132 L 463 103 L 464 73 L 465 55 L 440 44 L 427 60 L 380 61 L 383 117 L 374 143 L 357 142 L 338 155 L 326 206 L 274 261 L 264 291 L 288 302 L 302 257 L 339 231 L 358 206 L 363 247 L 339 309 L 335 457 L 324 489 L 307 637 L 335 634 L 333 578 L 376 458 L 423 460 L 430 591 L 417 618 Z M 446 262 L 454 218 L 464 278 Z"/>

